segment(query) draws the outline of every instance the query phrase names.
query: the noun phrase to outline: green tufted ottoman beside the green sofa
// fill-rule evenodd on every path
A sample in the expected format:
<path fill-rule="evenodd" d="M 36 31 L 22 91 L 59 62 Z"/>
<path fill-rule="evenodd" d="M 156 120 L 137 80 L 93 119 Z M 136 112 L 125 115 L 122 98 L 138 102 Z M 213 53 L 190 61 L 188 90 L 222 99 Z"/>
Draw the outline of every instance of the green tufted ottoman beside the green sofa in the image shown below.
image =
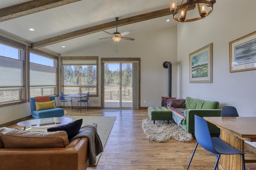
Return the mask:
<path fill-rule="evenodd" d="M 148 116 L 151 121 L 167 121 L 172 120 L 172 112 L 166 107 L 148 107 Z"/>

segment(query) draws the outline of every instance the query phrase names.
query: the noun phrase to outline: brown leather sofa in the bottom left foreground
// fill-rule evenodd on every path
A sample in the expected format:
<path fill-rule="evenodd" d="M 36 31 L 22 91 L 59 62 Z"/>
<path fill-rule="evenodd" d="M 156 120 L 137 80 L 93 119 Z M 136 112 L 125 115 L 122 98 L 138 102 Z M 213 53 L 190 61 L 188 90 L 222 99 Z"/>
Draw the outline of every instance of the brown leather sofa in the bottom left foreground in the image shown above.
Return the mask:
<path fill-rule="evenodd" d="M 88 139 L 68 142 L 65 131 L 0 132 L 0 170 L 86 170 Z"/>

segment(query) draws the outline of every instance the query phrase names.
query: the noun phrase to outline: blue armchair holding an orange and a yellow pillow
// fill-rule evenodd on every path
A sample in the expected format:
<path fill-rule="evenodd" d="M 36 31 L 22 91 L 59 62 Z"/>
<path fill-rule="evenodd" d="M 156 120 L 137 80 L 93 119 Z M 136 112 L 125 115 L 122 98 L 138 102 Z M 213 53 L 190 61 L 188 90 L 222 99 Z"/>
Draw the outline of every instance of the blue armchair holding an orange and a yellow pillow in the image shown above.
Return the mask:
<path fill-rule="evenodd" d="M 55 100 L 55 96 L 50 96 L 50 100 Z M 46 109 L 46 110 L 40 110 L 36 111 L 36 101 L 34 97 L 29 98 L 30 101 L 30 109 L 31 109 L 31 115 L 35 119 L 42 119 L 47 117 L 62 117 L 64 116 L 64 109 L 62 108 L 53 108 L 53 109 Z M 55 102 L 56 106 L 56 102 Z"/>

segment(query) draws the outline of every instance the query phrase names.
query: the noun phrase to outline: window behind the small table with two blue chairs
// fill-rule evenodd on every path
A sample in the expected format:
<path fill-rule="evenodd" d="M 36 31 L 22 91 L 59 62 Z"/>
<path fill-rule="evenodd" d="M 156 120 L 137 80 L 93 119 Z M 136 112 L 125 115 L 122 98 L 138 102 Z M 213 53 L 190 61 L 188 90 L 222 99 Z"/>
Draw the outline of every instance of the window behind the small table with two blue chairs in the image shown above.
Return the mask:
<path fill-rule="evenodd" d="M 64 94 L 98 95 L 98 57 L 61 57 Z"/>

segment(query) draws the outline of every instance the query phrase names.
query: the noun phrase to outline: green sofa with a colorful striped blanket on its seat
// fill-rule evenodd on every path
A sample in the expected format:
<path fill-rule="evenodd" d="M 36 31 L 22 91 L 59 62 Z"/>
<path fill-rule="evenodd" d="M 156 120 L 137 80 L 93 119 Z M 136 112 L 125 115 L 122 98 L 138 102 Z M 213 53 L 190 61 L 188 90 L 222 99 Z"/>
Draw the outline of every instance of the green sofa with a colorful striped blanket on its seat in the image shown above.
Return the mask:
<path fill-rule="evenodd" d="M 168 109 L 172 111 L 172 119 L 189 133 L 194 133 L 194 115 L 200 117 L 220 117 L 218 101 L 205 101 L 186 97 L 183 99 L 168 99 Z M 219 133 L 220 129 L 208 123 L 210 133 Z"/>

